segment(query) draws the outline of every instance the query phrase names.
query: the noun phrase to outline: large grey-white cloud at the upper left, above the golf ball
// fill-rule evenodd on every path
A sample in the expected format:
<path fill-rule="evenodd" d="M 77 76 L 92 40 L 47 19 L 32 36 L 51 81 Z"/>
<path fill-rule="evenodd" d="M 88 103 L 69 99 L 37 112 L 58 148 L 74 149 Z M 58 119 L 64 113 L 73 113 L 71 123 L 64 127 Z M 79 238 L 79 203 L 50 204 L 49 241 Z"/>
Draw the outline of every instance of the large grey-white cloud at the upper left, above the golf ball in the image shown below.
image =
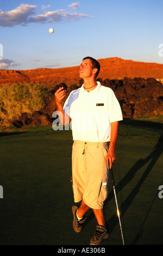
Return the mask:
<path fill-rule="evenodd" d="M 70 6 L 73 9 L 77 9 L 79 2 L 73 3 Z M 0 26 L 14 27 L 16 25 L 27 25 L 29 22 L 55 23 L 60 21 L 74 21 L 84 17 L 89 17 L 87 14 L 71 13 L 65 9 L 48 11 L 44 14 L 35 15 L 36 7 L 36 5 L 21 4 L 19 7 L 11 11 L 4 12 L 0 10 Z M 42 6 L 42 8 L 47 7 L 49 7 L 49 5 Z"/>

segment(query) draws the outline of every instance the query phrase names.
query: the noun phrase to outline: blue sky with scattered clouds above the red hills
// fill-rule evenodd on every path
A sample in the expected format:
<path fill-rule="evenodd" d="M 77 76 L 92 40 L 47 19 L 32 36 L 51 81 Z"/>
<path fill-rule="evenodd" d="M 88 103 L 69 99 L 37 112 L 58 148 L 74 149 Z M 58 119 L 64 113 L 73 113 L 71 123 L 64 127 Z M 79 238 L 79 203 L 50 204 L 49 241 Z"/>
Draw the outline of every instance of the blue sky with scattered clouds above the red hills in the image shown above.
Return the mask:
<path fill-rule="evenodd" d="M 162 0 L 0 0 L 0 69 L 77 66 L 86 56 L 163 64 L 162 10 Z"/>

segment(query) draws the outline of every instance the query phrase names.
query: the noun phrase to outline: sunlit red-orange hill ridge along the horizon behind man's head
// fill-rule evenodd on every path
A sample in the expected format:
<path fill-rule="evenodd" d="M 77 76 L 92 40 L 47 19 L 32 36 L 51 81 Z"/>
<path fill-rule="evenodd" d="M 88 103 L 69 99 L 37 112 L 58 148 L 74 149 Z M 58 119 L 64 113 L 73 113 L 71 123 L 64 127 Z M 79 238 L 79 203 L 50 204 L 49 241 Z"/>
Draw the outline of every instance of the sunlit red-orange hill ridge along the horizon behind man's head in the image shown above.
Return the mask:
<path fill-rule="evenodd" d="M 121 58 L 105 58 L 98 61 L 101 64 L 99 77 L 102 80 L 142 77 L 163 81 L 163 64 L 134 62 Z M 12 83 L 40 83 L 48 88 L 54 88 L 60 83 L 65 83 L 67 87 L 72 84 L 79 86 L 79 66 L 60 69 L 0 70 L 0 86 Z"/>

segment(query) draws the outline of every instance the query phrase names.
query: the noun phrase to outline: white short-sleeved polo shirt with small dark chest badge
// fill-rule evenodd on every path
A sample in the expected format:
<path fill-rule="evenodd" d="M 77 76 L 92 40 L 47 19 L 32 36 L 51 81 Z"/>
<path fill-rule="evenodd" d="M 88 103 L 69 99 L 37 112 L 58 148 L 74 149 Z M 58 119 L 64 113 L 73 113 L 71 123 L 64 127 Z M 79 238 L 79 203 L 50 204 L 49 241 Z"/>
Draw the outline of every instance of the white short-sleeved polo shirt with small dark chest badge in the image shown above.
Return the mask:
<path fill-rule="evenodd" d="M 123 120 L 114 92 L 100 82 L 90 92 L 84 86 L 73 90 L 65 101 L 64 111 L 71 118 L 73 140 L 78 141 L 108 142 L 111 123 Z"/>

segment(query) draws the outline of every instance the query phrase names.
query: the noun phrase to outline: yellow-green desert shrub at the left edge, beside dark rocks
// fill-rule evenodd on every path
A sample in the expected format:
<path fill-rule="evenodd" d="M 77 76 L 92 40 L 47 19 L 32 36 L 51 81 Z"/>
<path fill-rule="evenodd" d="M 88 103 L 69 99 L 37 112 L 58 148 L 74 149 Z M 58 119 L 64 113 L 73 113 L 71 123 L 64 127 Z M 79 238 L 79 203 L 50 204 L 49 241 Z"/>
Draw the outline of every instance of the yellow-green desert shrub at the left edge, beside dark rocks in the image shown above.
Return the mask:
<path fill-rule="evenodd" d="M 40 84 L 12 84 L 0 87 L 0 125 L 8 124 L 17 119 L 22 113 L 29 116 L 39 111 L 46 102 L 43 99 L 48 95 L 48 89 Z"/>

